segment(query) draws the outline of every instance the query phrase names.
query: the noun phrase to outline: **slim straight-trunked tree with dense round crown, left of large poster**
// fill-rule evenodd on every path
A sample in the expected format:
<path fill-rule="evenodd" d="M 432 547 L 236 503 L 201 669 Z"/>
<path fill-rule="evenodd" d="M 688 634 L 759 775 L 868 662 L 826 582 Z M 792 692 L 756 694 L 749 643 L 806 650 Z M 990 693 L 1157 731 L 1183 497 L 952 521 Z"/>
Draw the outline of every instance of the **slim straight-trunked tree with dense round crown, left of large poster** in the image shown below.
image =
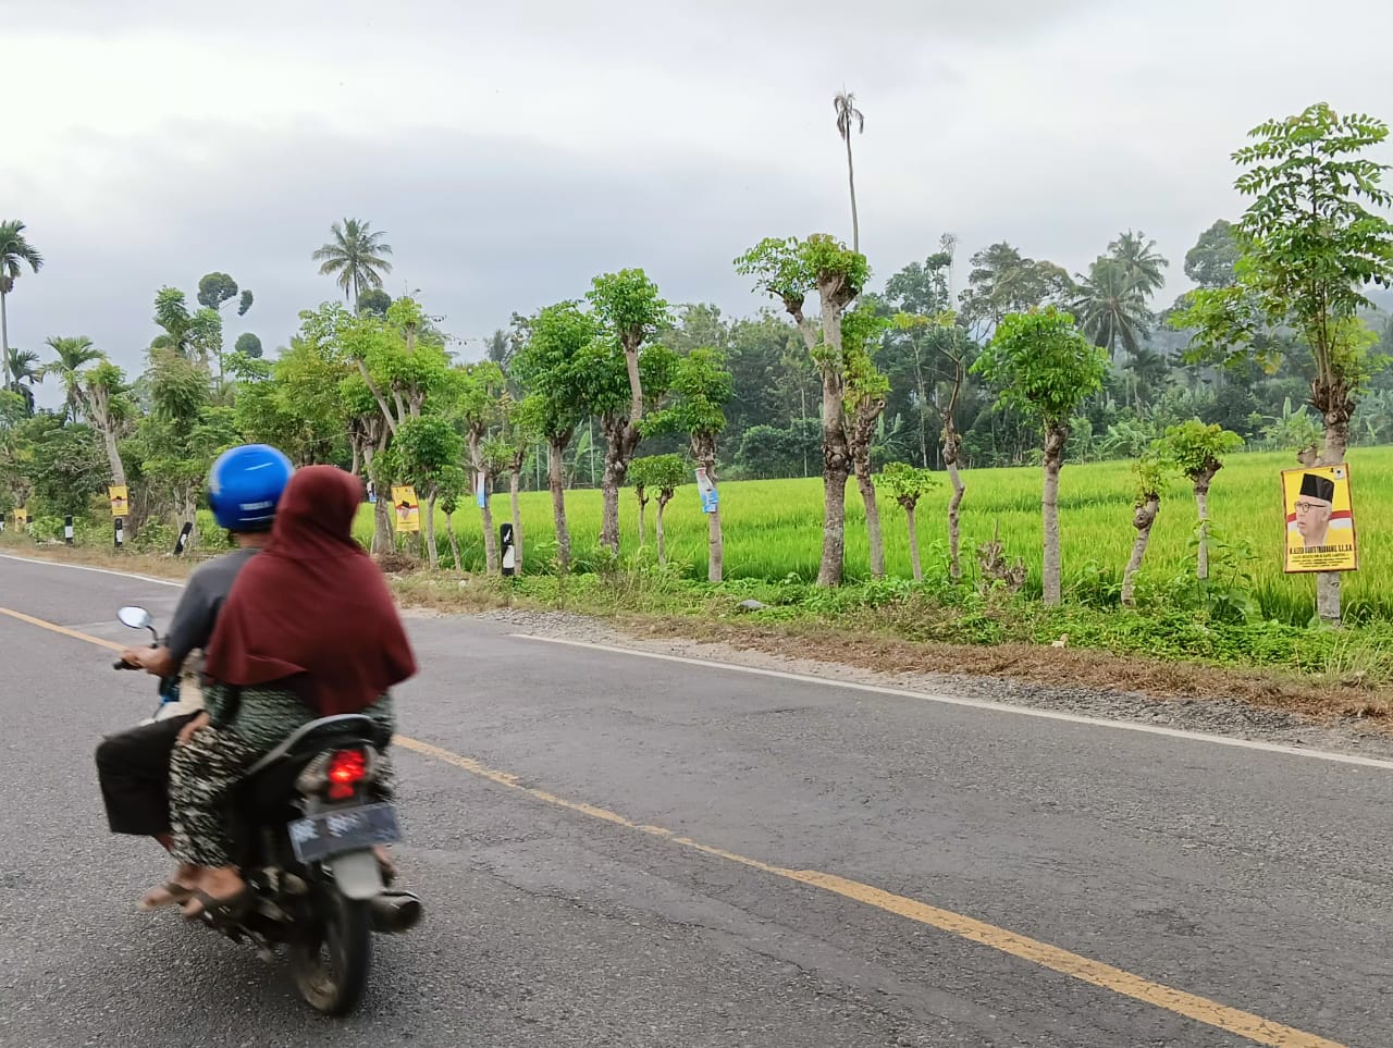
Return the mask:
<path fill-rule="evenodd" d="M 1061 598 L 1059 472 L 1064 464 L 1064 443 L 1080 404 L 1102 389 L 1107 357 L 1080 333 L 1073 316 L 1048 307 L 1003 318 L 972 371 L 1000 390 L 1000 407 L 1029 413 L 1042 424 L 1045 549 L 1041 581 L 1045 603 L 1057 605 Z"/>

